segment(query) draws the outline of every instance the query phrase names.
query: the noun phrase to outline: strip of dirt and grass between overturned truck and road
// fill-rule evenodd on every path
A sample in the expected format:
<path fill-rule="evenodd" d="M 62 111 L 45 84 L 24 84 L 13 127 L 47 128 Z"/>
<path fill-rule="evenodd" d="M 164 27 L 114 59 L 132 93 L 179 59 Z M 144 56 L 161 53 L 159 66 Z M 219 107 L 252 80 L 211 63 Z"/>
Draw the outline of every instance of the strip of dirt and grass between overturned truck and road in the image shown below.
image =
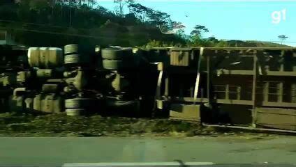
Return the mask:
<path fill-rule="evenodd" d="M 0 114 L 0 136 L 217 136 L 246 134 L 251 134 L 251 132 L 203 127 L 198 122 L 168 119 L 70 117 L 64 113 L 43 116 L 17 113 Z"/>

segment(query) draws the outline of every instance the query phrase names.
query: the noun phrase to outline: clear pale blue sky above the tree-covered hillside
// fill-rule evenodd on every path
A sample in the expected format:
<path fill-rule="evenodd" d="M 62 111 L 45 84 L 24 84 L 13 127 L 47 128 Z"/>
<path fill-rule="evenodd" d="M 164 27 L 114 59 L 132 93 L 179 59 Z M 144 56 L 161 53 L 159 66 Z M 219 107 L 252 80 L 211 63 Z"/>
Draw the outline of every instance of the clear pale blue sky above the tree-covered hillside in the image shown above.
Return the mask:
<path fill-rule="evenodd" d="M 280 41 L 296 47 L 296 1 L 156 1 L 136 0 L 143 6 L 161 10 L 172 20 L 182 22 L 186 33 L 196 24 L 206 26 L 209 33 L 224 40 Z M 98 4 L 114 10 L 113 1 Z M 125 11 L 128 13 L 128 10 Z"/>

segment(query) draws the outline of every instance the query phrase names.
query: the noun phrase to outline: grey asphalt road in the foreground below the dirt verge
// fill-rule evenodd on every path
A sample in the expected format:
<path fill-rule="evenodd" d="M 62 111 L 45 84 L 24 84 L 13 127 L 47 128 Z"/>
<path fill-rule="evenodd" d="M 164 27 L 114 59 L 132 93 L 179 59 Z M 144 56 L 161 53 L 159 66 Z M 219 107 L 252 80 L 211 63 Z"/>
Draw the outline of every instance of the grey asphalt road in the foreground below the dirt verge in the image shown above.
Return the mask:
<path fill-rule="evenodd" d="M 296 164 L 296 137 L 0 138 L 0 164 L 190 161 Z"/>

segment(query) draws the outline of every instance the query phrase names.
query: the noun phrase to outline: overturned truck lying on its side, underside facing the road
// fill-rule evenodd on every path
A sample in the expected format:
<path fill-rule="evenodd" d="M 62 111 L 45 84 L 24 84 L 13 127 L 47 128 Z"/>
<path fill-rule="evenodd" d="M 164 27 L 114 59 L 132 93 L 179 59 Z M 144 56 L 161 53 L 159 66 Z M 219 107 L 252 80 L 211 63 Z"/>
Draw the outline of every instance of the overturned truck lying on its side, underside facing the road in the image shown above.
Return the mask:
<path fill-rule="evenodd" d="M 296 131 L 293 47 L 66 45 L 15 53 L 15 61 L 1 62 L 3 111 L 167 117 Z"/>

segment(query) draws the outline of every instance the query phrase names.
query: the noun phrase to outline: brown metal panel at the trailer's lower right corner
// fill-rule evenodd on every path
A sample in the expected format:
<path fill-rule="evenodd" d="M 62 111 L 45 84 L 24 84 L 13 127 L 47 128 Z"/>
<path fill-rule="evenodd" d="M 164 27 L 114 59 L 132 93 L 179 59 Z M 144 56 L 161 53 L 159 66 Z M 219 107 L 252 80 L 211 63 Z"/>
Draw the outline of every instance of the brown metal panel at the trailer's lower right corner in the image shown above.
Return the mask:
<path fill-rule="evenodd" d="M 296 130 L 296 109 L 256 107 L 256 125 Z"/>

